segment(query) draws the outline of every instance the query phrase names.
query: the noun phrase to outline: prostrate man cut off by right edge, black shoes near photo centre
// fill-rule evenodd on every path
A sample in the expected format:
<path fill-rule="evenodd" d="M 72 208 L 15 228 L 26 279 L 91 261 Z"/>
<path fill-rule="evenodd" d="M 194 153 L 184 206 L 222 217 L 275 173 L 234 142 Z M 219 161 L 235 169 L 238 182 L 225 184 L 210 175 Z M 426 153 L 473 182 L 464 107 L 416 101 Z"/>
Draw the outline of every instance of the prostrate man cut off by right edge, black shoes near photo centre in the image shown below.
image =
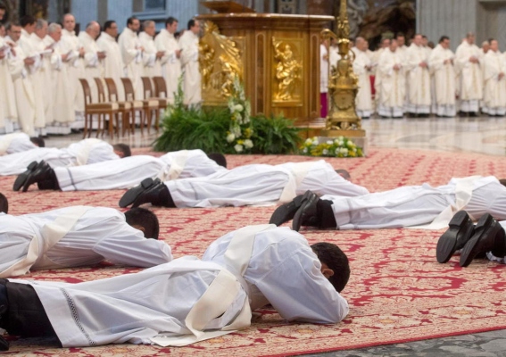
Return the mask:
<path fill-rule="evenodd" d="M 454 212 L 466 210 L 473 220 L 491 213 L 506 220 L 505 181 L 494 176 L 451 179 L 447 185 L 399 187 L 356 197 L 319 195 L 306 192 L 272 214 L 270 223 L 293 221 L 301 226 L 330 229 L 400 228 L 428 225 L 444 228 Z M 421 228 L 421 227 L 420 227 Z"/>

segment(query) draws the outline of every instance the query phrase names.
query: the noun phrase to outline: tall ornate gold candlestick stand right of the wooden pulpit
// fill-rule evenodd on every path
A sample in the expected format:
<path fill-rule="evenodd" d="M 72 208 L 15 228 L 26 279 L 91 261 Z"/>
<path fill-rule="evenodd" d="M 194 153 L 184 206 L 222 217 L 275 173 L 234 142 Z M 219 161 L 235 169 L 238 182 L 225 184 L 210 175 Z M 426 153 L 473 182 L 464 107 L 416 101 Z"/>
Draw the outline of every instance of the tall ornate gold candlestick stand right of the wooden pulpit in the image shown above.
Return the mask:
<path fill-rule="evenodd" d="M 321 31 L 322 38 L 334 38 L 337 41 L 341 58 L 337 63 L 329 63 L 329 109 L 326 128 L 320 133 L 324 137 L 365 137 L 365 130 L 361 129 L 361 118 L 355 107 L 359 86 L 353 73 L 354 54 L 350 50 L 350 24 L 345 0 L 341 0 L 339 18 L 336 21 L 336 34 L 329 29 Z"/>

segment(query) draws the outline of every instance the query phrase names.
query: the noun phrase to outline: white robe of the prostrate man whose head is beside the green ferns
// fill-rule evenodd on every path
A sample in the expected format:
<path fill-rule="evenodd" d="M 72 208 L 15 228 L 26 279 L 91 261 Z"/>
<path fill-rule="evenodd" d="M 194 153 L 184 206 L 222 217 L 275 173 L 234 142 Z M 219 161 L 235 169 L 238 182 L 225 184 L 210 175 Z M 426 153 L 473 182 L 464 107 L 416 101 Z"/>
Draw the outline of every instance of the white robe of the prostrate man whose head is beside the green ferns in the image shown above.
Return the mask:
<path fill-rule="evenodd" d="M 129 188 L 146 178 L 186 179 L 227 171 L 201 150 L 181 150 L 160 158 L 148 155 L 125 157 L 115 162 L 54 168 L 62 191 Z"/>

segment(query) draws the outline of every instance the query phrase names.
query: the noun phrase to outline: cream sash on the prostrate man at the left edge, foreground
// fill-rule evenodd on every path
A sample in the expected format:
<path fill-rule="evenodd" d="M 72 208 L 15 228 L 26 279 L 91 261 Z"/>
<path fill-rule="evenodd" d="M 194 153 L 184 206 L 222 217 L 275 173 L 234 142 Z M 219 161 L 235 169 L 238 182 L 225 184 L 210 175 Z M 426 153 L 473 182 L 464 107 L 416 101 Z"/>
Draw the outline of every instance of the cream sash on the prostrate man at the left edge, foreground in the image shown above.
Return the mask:
<path fill-rule="evenodd" d="M 65 237 L 83 214 L 91 208 L 92 207 L 87 206 L 69 207 L 66 212 L 57 217 L 53 222 L 47 223 L 41 229 L 42 239 L 39 239 L 37 235 L 34 235 L 33 239 L 29 243 L 29 249 L 26 256 L 19 262 L 12 264 L 11 267 L 0 272 L 0 278 L 24 275 L 36 262 L 37 268 L 40 269 L 61 267 L 47 258 L 47 251 L 58 243 L 62 237 Z"/>

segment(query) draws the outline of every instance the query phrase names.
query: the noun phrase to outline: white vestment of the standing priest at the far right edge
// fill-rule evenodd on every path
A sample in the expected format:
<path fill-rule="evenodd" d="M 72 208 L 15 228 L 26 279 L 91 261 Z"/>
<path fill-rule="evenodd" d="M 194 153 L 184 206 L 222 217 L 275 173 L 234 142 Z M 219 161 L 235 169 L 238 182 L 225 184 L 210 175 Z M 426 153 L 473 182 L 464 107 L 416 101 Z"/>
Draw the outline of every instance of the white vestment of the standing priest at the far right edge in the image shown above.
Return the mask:
<path fill-rule="evenodd" d="M 506 114 L 506 60 L 499 51 L 489 50 L 485 54 L 482 65 L 485 80 L 482 112 L 504 116 Z M 502 73 L 501 79 L 500 73 Z"/>

